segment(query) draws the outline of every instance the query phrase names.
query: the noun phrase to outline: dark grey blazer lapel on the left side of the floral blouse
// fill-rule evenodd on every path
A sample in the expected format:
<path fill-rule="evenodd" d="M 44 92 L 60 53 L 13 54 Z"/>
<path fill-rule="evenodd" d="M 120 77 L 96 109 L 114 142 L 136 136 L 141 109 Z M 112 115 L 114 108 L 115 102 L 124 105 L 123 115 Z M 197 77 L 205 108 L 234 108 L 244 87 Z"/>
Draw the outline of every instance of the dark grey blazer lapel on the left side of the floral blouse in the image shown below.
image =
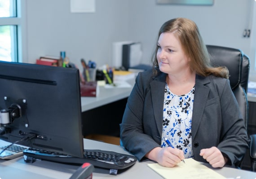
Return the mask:
<path fill-rule="evenodd" d="M 159 131 L 159 136 L 162 136 L 163 129 L 163 99 L 166 84 L 165 81 L 166 74 L 161 73 L 150 83 L 154 118 L 156 120 L 155 123 Z"/>

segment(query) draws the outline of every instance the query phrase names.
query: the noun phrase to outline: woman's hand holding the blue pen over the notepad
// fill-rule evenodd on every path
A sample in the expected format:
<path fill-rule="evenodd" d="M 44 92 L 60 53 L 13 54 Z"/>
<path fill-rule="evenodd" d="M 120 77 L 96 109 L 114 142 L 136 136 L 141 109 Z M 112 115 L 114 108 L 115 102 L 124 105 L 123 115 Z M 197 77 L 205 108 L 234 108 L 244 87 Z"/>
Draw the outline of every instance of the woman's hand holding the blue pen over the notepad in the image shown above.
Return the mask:
<path fill-rule="evenodd" d="M 146 157 L 166 167 L 176 166 L 181 160 L 185 159 L 182 150 L 171 147 L 156 147 L 147 153 Z"/>

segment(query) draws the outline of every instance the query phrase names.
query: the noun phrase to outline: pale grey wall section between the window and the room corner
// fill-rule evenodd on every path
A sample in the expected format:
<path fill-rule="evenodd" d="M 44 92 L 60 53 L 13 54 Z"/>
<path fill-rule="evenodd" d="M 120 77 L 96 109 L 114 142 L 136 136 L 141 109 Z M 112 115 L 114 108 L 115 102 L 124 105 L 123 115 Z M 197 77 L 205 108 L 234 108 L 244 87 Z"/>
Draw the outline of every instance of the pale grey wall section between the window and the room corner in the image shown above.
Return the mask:
<path fill-rule="evenodd" d="M 96 13 L 71 13 L 70 0 L 27 0 L 28 62 L 66 51 L 79 66 L 81 58 L 110 63 L 110 44 L 128 39 L 128 2 L 96 0 Z"/>

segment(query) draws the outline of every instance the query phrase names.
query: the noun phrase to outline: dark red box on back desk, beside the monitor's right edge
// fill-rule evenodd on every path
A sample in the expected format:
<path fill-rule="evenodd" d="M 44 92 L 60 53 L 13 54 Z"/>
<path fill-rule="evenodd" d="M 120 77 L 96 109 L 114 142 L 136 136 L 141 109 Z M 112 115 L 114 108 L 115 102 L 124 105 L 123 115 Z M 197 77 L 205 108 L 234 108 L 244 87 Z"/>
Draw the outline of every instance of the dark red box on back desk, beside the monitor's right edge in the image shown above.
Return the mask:
<path fill-rule="evenodd" d="M 96 97 L 97 96 L 97 81 L 80 83 L 81 96 Z"/>

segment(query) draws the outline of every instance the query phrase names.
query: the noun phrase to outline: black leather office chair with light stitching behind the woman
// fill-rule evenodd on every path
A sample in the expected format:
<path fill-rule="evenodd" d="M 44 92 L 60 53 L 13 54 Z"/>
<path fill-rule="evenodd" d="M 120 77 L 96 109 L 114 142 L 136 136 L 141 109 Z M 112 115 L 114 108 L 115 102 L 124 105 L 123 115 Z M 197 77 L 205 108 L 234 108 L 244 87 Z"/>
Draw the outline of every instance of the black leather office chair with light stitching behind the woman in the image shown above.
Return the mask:
<path fill-rule="evenodd" d="M 230 72 L 230 86 L 234 92 L 236 100 L 238 101 L 238 105 L 244 119 L 244 125 L 247 128 L 247 87 L 250 70 L 249 57 L 245 55 L 243 51 L 235 48 L 207 45 L 207 50 L 210 54 L 213 66 L 226 66 L 228 68 Z M 255 137 L 255 144 L 251 147 L 253 152 L 250 153 L 252 170 L 256 168 L 256 135 L 253 135 L 253 137 Z"/>

